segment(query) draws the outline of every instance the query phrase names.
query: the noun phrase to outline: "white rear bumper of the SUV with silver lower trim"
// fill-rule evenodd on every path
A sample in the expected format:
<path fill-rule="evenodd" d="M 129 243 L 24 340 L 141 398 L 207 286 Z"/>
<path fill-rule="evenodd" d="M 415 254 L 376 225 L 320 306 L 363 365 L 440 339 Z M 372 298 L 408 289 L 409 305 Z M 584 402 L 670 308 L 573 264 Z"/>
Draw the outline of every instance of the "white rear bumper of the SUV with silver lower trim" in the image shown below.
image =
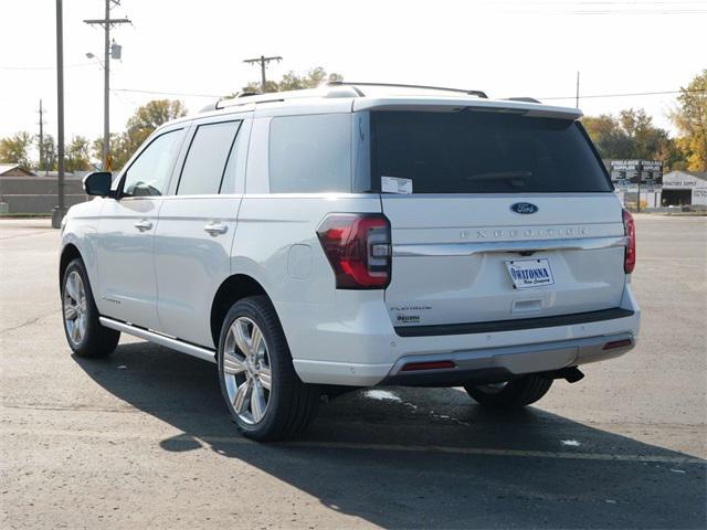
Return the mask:
<path fill-rule="evenodd" d="M 306 383 L 456 385 L 507 380 L 619 357 L 635 346 L 641 321 L 630 284 L 619 308 L 593 311 L 602 314 L 601 318 L 581 314 L 544 318 L 537 322 L 540 326 L 525 322 L 516 329 L 492 326 L 475 332 L 424 336 L 395 332 L 381 292 L 337 294 L 338 303 L 323 309 L 309 306 L 305 311 L 302 306 L 276 305 L 295 370 Z M 631 342 L 603 349 L 620 340 Z M 428 361 L 452 361 L 454 368 L 424 373 L 402 370 L 411 362 Z"/>

